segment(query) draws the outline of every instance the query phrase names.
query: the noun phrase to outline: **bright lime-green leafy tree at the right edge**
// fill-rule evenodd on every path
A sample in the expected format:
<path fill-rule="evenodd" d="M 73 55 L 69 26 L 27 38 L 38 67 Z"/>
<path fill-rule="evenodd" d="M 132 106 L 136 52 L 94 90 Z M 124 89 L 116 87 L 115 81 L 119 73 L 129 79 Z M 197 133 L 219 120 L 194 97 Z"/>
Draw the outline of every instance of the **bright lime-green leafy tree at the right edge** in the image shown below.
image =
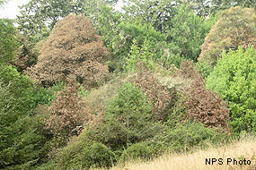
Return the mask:
<path fill-rule="evenodd" d="M 207 78 L 207 89 L 228 101 L 234 132 L 256 132 L 256 49 L 223 53 Z"/>

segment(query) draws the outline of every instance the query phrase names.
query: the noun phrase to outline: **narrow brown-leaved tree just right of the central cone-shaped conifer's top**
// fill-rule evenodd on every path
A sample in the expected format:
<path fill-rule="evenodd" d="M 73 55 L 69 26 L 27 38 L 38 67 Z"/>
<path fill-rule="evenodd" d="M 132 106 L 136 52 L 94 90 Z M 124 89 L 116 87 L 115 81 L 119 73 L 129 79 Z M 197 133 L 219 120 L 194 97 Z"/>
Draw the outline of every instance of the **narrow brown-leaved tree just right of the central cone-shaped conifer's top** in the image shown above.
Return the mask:
<path fill-rule="evenodd" d="M 163 111 L 171 100 L 170 92 L 156 80 L 154 73 L 146 68 L 145 63 L 137 64 L 137 70 L 137 75 L 132 77 L 131 82 L 135 82 L 139 88 L 143 89 L 147 101 L 153 103 L 154 120 L 163 120 L 166 116 Z"/>

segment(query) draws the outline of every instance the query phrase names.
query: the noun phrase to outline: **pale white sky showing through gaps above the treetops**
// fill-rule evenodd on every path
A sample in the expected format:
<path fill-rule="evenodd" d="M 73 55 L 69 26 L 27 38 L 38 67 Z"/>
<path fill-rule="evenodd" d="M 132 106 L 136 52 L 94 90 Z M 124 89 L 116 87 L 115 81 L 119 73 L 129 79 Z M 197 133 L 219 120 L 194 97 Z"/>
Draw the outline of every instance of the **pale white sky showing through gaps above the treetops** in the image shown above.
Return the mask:
<path fill-rule="evenodd" d="M 0 8 L 0 17 L 15 19 L 16 15 L 19 14 L 19 10 L 20 10 L 18 6 L 22 4 L 27 4 L 28 2 L 30 2 L 30 0 L 9 0 L 8 3 L 4 4 L 3 7 Z M 121 5 L 122 5 L 122 2 L 119 0 L 115 8 L 117 10 L 120 10 Z"/>

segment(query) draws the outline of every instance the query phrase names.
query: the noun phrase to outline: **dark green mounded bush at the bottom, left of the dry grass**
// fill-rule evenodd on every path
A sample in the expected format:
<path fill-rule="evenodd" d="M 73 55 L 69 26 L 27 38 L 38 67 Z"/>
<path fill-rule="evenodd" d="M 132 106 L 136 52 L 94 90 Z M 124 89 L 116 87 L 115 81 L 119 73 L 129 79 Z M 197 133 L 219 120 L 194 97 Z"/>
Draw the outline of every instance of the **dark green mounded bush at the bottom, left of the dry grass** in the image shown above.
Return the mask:
<path fill-rule="evenodd" d="M 88 139 L 88 132 L 68 143 L 56 157 L 38 169 L 89 169 L 90 167 L 110 167 L 116 163 L 115 154 L 105 145 Z"/>

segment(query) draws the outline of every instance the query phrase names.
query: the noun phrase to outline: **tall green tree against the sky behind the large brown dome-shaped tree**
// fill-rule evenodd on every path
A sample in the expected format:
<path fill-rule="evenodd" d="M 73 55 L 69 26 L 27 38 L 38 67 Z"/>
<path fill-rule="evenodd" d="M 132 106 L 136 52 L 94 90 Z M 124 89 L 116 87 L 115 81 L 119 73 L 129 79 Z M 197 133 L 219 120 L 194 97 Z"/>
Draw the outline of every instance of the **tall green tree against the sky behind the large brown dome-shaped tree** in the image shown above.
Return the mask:
<path fill-rule="evenodd" d="M 81 14 L 97 23 L 102 5 L 111 4 L 104 0 L 31 0 L 21 6 L 21 15 L 17 16 L 18 29 L 29 38 L 32 44 L 49 36 L 57 21 L 70 13 Z"/>

